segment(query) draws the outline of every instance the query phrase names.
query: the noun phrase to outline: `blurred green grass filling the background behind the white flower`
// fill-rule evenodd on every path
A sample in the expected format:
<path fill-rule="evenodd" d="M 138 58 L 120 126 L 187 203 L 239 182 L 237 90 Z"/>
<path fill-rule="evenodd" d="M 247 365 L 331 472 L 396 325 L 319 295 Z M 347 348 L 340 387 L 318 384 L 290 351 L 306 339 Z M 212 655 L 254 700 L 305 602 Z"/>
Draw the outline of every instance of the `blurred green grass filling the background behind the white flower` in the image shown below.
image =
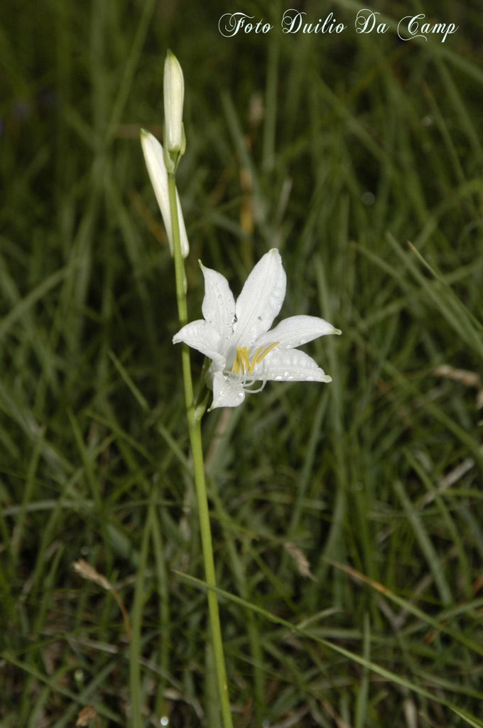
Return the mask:
<path fill-rule="evenodd" d="M 293 5 L 349 28 L 284 36 Z M 238 292 L 277 246 L 283 316 L 343 330 L 310 346 L 332 384 L 268 384 L 204 421 L 218 583 L 242 600 L 221 598 L 235 725 L 483 725 L 481 7 L 372 3 L 393 29 L 456 23 L 444 45 L 358 36 L 360 7 L 4 3 L 4 728 L 220 725 L 205 596 L 183 577 L 202 564 L 172 260 L 139 143 L 161 138 L 168 46 L 191 317 L 198 258 Z M 235 10 L 276 28 L 224 39 Z"/>

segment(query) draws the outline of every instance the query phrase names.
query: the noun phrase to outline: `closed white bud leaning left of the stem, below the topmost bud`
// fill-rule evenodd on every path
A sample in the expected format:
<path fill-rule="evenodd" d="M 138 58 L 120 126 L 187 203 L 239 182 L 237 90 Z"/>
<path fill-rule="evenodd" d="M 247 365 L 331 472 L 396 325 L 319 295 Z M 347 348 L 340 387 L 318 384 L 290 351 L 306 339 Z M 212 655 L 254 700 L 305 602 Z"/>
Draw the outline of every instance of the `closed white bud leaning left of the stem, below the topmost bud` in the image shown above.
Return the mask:
<path fill-rule="evenodd" d="M 144 160 L 148 167 L 149 178 L 153 186 L 154 194 L 158 201 L 159 210 L 166 228 L 169 248 L 172 253 L 172 225 L 171 214 L 169 213 L 168 173 L 164 164 L 163 148 L 156 137 L 141 130 L 141 146 L 143 147 Z M 185 258 L 189 253 L 188 235 L 186 234 L 185 221 L 181 210 L 180 198 L 176 191 L 177 217 L 180 223 L 181 254 Z"/>

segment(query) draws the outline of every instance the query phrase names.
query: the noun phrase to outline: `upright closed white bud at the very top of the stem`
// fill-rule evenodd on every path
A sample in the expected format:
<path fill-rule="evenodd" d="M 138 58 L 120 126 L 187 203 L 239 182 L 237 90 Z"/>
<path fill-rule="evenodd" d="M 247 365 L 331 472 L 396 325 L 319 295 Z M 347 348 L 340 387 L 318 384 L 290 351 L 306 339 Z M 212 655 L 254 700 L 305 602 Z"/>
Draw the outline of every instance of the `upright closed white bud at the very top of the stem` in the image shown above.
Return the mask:
<path fill-rule="evenodd" d="M 183 71 L 170 50 L 164 61 L 164 143 L 168 152 L 179 152 L 183 147 L 183 99 L 185 82 Z"/>

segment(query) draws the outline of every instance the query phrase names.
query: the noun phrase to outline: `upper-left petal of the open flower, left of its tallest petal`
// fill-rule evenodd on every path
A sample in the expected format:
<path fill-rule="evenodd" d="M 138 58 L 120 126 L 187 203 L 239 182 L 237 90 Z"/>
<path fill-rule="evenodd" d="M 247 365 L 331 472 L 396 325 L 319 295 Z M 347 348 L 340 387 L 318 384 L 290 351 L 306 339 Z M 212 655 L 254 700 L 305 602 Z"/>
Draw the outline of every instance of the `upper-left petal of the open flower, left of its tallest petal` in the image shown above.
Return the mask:
<path fill-rule="evenodd" d="M 235 299 L 225 276 L 201 264 L 204 275 L 204 299 L 201 310 L 204 319 L 220 334 L 221 350 L 228 347 L 233 333 Z"/>

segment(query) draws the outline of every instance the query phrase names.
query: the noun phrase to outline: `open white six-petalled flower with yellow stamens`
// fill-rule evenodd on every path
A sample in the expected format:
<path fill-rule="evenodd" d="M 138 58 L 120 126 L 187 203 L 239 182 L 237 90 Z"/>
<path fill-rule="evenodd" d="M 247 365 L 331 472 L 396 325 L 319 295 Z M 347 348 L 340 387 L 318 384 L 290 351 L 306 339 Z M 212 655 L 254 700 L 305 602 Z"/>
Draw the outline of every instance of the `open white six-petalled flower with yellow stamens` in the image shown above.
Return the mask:
<path fill-rule="evenodd" d="M 201 265 L 201 263 L 200 263 Z M 235 303 L 226 278 L 201 265 L 204 320 L 183 326 L 173 344 L 183 341 L 212 360 L 213 403 L 237 407 L 247 393 L 260 392 L 268 380 L 332 381 L 296 347 L 327 333 L 340 333 L 316 316 L 292 316 L 272 328 L 285 297 L 287 276 L 276 248 L 258 261 Z M 254 388 L 256 381 L 261 387 Z"/>

